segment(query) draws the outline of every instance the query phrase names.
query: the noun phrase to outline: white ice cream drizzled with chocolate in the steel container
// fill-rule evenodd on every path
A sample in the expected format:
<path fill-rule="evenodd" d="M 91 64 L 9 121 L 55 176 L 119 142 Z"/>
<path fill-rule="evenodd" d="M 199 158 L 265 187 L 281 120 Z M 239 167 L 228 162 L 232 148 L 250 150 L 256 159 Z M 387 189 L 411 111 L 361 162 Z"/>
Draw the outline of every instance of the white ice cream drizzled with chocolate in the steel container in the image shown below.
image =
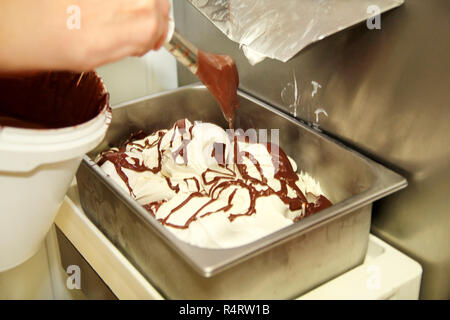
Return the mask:
<path fill-rule="evenodd" d="M 244 245 L 331 205 L 277 145 L 212 123 L 182 119 L 139 132 L 97 163 L 168 230 L 199 247 Z"/>

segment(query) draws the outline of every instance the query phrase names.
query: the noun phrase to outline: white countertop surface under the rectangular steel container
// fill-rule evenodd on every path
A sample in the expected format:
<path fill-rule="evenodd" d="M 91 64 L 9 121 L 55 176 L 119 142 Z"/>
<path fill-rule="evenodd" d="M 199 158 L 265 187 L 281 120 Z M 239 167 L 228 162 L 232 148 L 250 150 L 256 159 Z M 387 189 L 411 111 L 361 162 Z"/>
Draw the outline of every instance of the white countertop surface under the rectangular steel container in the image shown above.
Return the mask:
<path fill-rule="evenodd" d="M 84 214 L 76 185 L 67 193 L 55 224 L 119 299 L 163 299 Z M 362 265 L 298 299 L 417 299 L 421 275 L 416 261 L 370 235 Z"/>

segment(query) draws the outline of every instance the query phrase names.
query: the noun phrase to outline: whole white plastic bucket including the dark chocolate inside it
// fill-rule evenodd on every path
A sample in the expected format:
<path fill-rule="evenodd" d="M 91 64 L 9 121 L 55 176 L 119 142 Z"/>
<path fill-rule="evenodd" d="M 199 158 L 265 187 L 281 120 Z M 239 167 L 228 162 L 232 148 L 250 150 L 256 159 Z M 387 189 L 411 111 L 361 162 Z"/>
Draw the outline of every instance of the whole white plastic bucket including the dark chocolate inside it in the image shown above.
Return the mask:
<path fill-rule="evenodd" d="M 0 75 L 0 272 L 41 247 L 83 155 L 111 123 L 108 100 L 95 72 Z"/>

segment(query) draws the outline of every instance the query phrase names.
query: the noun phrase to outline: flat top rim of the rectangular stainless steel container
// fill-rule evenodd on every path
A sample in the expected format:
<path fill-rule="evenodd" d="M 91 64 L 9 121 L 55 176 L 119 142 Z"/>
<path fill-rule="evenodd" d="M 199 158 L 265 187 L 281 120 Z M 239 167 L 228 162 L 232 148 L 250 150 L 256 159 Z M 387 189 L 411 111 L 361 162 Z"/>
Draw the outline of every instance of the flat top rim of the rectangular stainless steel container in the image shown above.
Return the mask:
<path fill-rule="evenodd" d="M 139 99 L 130 100 L 114 106 L 114 108 L 121 108 L 130 104 L 138 103 L 148 100 L 150 98 L 156 98 L 159 96 L 169 95 L 175 91 L 190 90 L 190 89 L 205 89 L 204 85 L 195 83 L 187 86 L 182 86 L 173 90 L 157 93 L 154 95 L 148 95 Z M 139 214 L 139 217 L 159 235 L 164 242 L 176 251 L 183 259 L 200 275 L 204 277 L 212 277 L 218 273 L 229 269 L 243 261 L 246 261 L 255 255 L 264 252 L 277 246 L 281 243 L 289 241 L 293 237 L 297 237 L 305 232 L 309 232 L 321 225 L 342 217 L 354 210 L 362 208 L 371 204 L 375 200 L 383 198 L 391 193 L 394 193 L 407 186 L 407 180 L 398 173 L 388 169 L 376 161 L 358 153 L 357 151 L 349 148 L 338 140 L 326 135 L 323 132 L 319 132 L 316 129 L 309 127 L 302 121 L 287 115 L 286 113 L 278 110 L 277 108 L 270 106 L 269 104 L 261 101 L 242 90 L 238 90 L 238 95 L 251 102 L 258 104 L 278 116 L 294 123 L 297 126 L 309 131 L 313 135 L 320 136 L 326 140 L 336 144 L 339 148 L 344 149 L 346 152 L 352 153 L 354 156 L 365 162 L 370 168 L 373 176 L 373 184 L 365 191 L 354 195 L 341 202 L 333 204 L 331 207 L 324 209 L 318 213 L 308 216 L 299 222 L 296 222 L 290 226 L 275 231 L 263 238 L 260 238 L 251 243 L 228 249 L 209 249 L 201 248 L 188 244 L 178 238 L 170 231 L 166 230 L 163 225 L 156 221 L 150 214 L 142 207 L 135 199 L 130 197 L 125 190 L 122 190 L 116 185 L 112 179 L 103 172 L 103 170 L 88 156 L 85 155 L 83 163 L 87 165 L 89 170 L 92 170 L 100 180 L 105 183 L 113 193 L 124 200 L 126 206 L 128 206 L 134 212 Z"/>

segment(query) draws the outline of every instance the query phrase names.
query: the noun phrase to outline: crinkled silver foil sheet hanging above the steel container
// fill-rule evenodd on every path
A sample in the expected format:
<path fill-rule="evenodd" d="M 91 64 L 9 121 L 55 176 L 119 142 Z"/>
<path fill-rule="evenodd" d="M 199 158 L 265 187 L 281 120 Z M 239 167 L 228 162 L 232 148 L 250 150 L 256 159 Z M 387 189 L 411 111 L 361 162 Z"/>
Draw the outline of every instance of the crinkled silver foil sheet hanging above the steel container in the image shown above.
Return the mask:
<path fill-rule="evenodd" d="M 286 62 L 311 43 L 398 7 L 404 0 L 189 0 L 251 64 Z"/>

